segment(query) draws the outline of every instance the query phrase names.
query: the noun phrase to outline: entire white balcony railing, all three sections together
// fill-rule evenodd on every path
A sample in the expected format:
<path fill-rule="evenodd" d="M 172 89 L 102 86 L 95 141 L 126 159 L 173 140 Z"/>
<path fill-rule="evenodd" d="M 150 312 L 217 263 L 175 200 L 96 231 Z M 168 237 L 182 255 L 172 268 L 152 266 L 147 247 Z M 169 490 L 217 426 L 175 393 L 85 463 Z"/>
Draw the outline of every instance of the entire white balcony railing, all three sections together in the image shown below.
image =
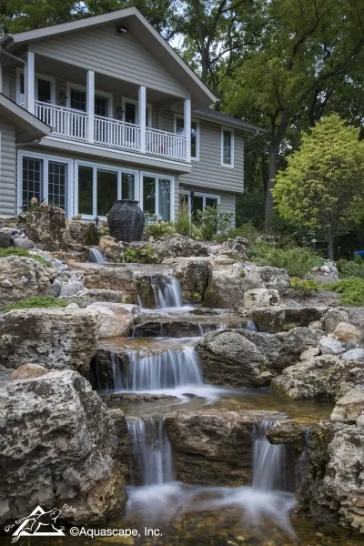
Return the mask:
<path fill-rule="evenodd" d="M 35 116 L 52 127 L 52 136 L 92 142 L 100 146 L 142 152 L 177 161 L 187 160 L 187 138 L 145 128 L 104 116 L 89 116 L 82 110 L 35 101 Z"/>

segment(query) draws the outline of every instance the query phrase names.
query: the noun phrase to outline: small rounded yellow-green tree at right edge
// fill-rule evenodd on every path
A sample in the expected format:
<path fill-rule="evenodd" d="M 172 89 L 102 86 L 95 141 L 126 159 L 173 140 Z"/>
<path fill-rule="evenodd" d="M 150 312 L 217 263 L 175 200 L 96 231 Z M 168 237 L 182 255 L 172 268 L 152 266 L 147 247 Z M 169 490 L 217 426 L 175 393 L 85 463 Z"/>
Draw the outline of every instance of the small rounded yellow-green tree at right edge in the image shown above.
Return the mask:
<path fill-rule="evenodd" d="M 288 167 L 271 190 L 280 217 L 326 232 L 329 259 L 334 238 L 364 217 L 364 142 L 359 128 L 337 115 L 302 135 Z"/>

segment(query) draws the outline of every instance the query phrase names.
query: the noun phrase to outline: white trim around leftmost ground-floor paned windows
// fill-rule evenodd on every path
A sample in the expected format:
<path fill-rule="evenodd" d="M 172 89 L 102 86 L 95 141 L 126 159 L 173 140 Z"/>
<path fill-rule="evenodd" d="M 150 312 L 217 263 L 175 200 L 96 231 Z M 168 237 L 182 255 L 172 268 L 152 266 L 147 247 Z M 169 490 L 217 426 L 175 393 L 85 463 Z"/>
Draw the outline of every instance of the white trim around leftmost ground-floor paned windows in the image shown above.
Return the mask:
<path fill-rule="evenodd" d="M 48 163 L 49 161 L 55 161 L 56 163 L 64 163 L 67 166 L 67 182 L 66 182 L 66 218 L 73 215 L 73 187 L 72 187 L 72 173 L 73 173 L 73 159 L 66 157 L 52 156 L 48 154 L 39 154 L 38 152 L 28 152 L 26 150 L 18 150 L 17 154 L 17 210 L 21 210 L 23 205 L 23 158 L 29 157 L 30 159 L 40 159 L 43 161 L 43 187 L 41 188 L 42 198 L 48 202 Z M 45 184 L 46 181 L 46 184 Z"/>

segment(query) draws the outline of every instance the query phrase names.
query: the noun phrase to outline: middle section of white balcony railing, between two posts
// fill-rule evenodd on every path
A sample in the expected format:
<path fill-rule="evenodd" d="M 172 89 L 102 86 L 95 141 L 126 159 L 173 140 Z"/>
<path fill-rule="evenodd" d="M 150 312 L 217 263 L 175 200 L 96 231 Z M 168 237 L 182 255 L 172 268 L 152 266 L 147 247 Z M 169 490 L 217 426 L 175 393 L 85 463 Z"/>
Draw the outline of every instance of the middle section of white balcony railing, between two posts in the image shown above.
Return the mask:
<path fill-rule="evenodd" d="M 139 151 L 140 126 L 110 117 L 95 116 L 95 142 Z"/>

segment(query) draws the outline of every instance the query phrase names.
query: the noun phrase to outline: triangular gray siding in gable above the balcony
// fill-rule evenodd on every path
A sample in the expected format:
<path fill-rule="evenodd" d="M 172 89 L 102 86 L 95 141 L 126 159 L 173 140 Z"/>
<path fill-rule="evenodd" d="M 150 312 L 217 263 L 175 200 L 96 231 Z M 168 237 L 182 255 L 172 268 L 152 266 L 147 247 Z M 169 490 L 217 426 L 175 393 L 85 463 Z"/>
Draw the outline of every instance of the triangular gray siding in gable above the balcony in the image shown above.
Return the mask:
<path fill-rule="evenodd" d="M 114 25 L 39 40 L 30 49 L 43 56 L 148 86 L 169 95 L 189 96 L 185 86 L 130 33 Z"/>

